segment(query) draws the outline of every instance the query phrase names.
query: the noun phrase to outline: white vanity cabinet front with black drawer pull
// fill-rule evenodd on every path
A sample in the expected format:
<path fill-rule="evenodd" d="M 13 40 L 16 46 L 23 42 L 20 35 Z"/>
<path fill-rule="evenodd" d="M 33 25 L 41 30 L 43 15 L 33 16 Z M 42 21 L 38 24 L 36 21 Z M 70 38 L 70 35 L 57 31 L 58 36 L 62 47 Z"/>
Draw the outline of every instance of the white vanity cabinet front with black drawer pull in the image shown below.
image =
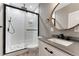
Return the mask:
<path fill-rule="evenodd" d="M 39 40 L 39 56 L 70 56 L 69 54 Z"/>

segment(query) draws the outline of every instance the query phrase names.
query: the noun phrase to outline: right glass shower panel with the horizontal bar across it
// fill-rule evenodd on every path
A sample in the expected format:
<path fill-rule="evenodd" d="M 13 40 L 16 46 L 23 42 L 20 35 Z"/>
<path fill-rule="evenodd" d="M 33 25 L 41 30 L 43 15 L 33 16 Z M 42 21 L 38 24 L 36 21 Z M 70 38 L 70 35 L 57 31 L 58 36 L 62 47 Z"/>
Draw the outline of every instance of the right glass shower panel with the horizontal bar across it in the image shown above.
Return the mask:
<path fill-rule="evenodd" d="M 25 13 L 25 48 L 38 46 L 38 15 Z"/>

